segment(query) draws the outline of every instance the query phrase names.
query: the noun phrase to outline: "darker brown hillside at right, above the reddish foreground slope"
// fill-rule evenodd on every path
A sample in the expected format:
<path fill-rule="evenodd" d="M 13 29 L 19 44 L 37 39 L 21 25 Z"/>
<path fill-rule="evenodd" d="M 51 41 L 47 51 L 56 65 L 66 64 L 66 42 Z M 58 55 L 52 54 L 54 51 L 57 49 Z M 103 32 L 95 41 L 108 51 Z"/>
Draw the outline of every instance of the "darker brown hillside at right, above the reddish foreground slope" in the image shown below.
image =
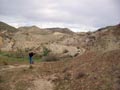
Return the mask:
<path fill-rule="evenodd" d="M 109 26 L 88 33 L 85 36 L 85 48 L 92 51 L 110 51 L 120 49 L 120 26 Z"/>

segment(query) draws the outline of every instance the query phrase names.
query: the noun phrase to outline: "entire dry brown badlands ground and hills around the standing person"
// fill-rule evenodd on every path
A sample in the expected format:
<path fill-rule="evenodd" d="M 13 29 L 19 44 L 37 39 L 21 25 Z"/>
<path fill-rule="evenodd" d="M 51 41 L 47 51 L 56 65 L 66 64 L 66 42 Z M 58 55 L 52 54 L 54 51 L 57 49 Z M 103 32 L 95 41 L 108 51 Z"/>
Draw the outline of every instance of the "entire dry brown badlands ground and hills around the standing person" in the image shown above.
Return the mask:
<path fill-rule="evenodd" d="M 120 24 L 75 33 L 0 22 L 0 90 L 120 90 Z"/>

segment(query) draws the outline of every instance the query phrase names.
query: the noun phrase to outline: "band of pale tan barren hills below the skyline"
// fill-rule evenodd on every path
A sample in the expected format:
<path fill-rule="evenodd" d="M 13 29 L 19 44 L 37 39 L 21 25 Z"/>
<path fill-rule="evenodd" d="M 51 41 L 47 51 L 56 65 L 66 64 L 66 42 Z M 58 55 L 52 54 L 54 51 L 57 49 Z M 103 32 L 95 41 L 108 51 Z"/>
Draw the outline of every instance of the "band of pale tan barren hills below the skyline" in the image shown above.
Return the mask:
<path fill-rule="evenodd" d="M 11 32 L 1 35 L 6 37 L 3 42 L 2 51 L 18 50 L 37 50 L 41 53 L 42 48 L 46 47 L 51 53 L 76 55 L 83 54 L 85 51 L 110 51 L 120 48 L 120 26 L 108 26 L 95 32 L 74 33 L 67 28 L 46 28 L 41 29 L 37 26 L 19 27 L 15 29 L 7 24 L 7 31 Z M 1 29 L 4 30 L 4 29 Z M 64 51 L 67 51 L 64 53 Z"/>

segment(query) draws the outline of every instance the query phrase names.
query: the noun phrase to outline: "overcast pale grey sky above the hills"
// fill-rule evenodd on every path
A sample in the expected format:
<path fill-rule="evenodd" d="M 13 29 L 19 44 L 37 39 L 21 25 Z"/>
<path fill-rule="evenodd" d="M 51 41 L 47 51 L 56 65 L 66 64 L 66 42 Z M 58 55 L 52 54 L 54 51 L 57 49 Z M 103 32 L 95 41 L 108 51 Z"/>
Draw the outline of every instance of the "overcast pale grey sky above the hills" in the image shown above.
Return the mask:
<path fill-rule="evenodd" d="M 0 21 L 87 32 L 119 24 L 119 9 L 120 0 L 0 0 Z"/>

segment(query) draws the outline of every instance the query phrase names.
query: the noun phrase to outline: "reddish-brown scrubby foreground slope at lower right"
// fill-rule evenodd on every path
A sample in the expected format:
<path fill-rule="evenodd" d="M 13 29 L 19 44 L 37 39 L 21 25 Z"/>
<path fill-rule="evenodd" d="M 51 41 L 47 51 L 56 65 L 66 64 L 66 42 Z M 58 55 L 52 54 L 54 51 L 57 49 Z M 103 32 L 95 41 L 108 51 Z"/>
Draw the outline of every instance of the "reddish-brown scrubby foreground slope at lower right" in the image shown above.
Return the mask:
<path fill-rule="evenodd" d="M 59 74 L 56 90 L 119 90 L 119 62 L 120 50 L 76 57 Z"/>

